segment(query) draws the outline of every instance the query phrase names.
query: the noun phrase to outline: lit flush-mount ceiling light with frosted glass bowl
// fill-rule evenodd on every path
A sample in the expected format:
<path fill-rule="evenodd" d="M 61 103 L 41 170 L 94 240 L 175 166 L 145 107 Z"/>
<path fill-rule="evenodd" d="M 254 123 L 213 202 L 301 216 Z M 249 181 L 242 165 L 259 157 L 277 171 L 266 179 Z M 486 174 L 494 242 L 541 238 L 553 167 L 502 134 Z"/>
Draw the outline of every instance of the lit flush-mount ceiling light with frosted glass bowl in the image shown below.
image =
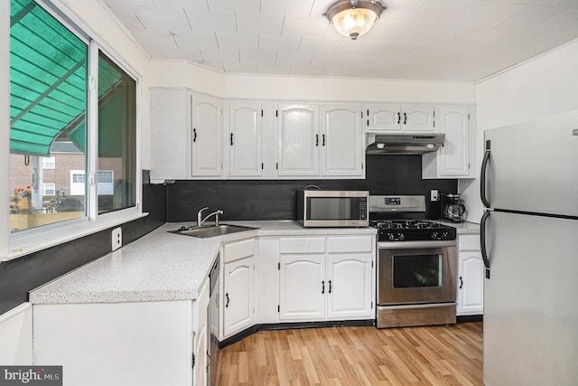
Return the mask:
<path fill-rule="evenodd" d="M 338 33 L 357 40 L 373 27 L 384 9 L 377 0 L 340 0 L 330 5 L 324 16 Z"/>

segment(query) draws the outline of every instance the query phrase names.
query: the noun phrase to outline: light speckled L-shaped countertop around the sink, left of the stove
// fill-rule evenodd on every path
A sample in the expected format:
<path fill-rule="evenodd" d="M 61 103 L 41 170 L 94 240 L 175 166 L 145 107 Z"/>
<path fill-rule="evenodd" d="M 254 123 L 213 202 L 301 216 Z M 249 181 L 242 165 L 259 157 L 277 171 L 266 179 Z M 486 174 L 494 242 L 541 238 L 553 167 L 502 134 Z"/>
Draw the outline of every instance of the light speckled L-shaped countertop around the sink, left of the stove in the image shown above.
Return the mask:
<path fill-rule="evenodd" d="M 106 256 L 31 291 L 33 304 L 194 300 L 223 243 L 256 236 L 375 234 L 373 228 L 303 228 L 295 221 L 225 221 L 257 228 L 209 239 L 169 233 L 165 223 Z"/>

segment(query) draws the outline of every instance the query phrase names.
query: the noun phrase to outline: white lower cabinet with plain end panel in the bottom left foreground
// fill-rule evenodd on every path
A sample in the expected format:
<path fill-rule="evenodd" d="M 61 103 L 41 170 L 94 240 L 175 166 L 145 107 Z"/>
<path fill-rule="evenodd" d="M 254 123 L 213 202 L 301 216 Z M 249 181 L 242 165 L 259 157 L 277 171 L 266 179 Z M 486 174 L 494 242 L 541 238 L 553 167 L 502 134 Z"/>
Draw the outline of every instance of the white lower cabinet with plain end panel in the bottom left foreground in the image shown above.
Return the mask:
<path fill-rule="evenodd" d="M 194 302 L 34 305 L 34 364 L 62 365 L 64 386 L 204 385 L 208 287 Z"/>

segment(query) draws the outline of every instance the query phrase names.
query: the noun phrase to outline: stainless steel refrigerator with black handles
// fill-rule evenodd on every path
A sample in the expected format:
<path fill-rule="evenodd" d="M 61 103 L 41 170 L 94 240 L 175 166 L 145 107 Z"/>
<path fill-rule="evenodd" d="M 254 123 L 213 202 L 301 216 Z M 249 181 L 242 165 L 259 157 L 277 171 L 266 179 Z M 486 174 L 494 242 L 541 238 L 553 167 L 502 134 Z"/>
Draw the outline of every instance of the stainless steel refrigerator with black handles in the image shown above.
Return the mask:
<path fill-rule="evenodd" d="M 578 385 L 578 111 L 485 145 L 484 383 Z"/>

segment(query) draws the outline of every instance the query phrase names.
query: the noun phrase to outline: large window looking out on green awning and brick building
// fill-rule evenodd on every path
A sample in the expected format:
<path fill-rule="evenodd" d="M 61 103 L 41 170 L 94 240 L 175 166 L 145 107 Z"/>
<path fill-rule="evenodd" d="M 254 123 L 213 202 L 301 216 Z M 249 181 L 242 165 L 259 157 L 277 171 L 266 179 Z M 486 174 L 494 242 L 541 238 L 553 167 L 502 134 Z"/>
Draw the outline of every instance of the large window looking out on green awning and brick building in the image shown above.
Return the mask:
<path fill-rule="evenodd" d="M 135 76 L 50 5 L 10 6 L 10 191 L 33 206 L 11 232 L 137 210 Z"/>

